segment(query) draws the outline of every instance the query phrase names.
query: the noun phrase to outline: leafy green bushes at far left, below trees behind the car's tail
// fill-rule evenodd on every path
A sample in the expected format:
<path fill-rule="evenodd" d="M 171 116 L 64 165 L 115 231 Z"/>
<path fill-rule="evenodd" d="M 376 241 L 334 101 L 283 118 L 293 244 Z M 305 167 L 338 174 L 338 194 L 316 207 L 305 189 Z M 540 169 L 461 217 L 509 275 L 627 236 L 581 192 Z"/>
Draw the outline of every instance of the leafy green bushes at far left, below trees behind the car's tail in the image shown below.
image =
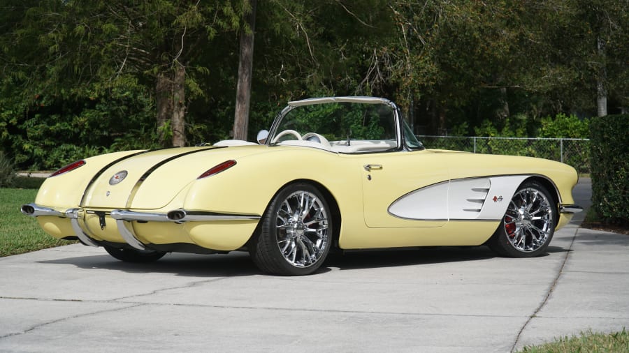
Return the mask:
<path fill-rule="evenodd" d="M 157 133 L 147 133 L 157 126 L 149 93 L 115 87 L 85 94 L 0 98 L 0 149 L 22 170 L 55 170 L 108 151 L 154 147 Z"/>

